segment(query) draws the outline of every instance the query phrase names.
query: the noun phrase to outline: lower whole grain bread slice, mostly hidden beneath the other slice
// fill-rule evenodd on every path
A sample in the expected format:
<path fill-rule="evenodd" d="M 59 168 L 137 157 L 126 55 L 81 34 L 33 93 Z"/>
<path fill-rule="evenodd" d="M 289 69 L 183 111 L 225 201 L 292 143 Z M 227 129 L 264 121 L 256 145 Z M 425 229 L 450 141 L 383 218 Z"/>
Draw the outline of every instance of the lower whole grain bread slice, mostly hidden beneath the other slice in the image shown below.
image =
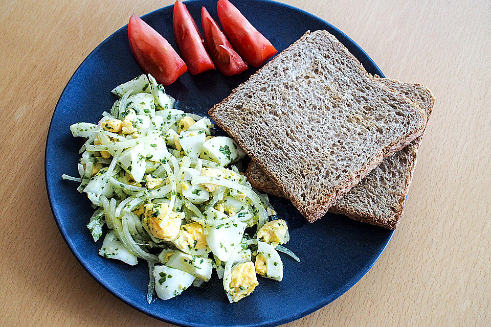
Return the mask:
<path fill-rule="evenodd" d="M 406 96 L 426 112 L 428 119 L 430 118 L 435 98 L 427 87 L 390 79 L 377 80 L 398 94 Z M 329 211 L 395 229 L 403 215 L 421 137 L 422 135 L 403 150 L 385 158 L 377 168 L 330 207 Z M 245 175 L 255 189 L 284 197 L 275 183 L 254 161 L 251 161 Z"/>

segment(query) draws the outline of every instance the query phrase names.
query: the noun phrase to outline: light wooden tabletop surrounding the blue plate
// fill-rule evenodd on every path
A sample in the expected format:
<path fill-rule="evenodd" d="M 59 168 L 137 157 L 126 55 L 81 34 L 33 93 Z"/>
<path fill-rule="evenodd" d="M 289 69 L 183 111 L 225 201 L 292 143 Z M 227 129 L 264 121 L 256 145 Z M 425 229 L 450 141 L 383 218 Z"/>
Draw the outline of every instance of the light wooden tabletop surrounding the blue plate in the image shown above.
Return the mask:
<path fill-rule="evenodd" d="M 286 2 L 340 28 L 386 76 L 426 84 L 437 99 L 387 250 L 343 296 L 287 326 L 491 325 L 491 2 Z M 80 62 L 131 13 L 170 3 L 0 0 L 0 325 L 168 326 L 75 260 L 50 211 L 43 157 L 56 101 Z"/>

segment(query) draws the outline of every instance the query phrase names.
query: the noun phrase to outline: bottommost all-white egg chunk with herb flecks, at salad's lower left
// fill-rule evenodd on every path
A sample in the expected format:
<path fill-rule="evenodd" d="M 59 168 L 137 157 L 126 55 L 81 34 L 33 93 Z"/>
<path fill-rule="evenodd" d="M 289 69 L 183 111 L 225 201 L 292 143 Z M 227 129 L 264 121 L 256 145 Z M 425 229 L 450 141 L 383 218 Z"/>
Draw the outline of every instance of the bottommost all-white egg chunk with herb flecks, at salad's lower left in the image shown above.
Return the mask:
<path fill-rule="evenodd" d="M 190 273 L 168 266 L 155 266 L 153 276 L 155 277 L 155 292 L 163 300 L 180 295 L 191 286 L 196 278 Z"/>

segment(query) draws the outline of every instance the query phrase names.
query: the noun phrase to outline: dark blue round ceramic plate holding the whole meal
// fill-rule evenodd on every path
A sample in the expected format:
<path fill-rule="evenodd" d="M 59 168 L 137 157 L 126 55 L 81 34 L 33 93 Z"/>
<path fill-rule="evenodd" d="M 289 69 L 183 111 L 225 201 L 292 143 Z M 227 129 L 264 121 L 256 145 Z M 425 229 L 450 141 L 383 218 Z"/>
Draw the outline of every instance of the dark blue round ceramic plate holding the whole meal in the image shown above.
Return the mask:
<path fill-rule="evenodd" d="M 325 29 L 334 34 L 358 58 L 368 72 L 382 75 L 358 45 L 338 29 L 307 12 L 272 1 L 233 3 L 279 51 L 307 30 Z M 200 9 L 205 6 L 218 20 L 215 0 L 187 2 L 200 26 Z M 143 16 L 143 19 L 175 46 L 172 6 Z M 233 88 L 256 69 L 234 77 L 217 71 L 197 76 L 184 74 L 167 93 L 178 100 L 176 107 L 199 115 L 226 98 Z M 116 85 L 142 74 L 131 54 L 127 26 L 104 40 L 82 62 L 66 85 L 53 113 L 46 144 L 46 183 L 53 214 L 63 238 L 87 271 L 109 292 L 128 305 L 155 318 L 186 326 L 273 326 L 305 316 L 322 308 L 353 286 L 370 269 L 387 246 L 392 232 L 344 216 L 328 214 L 307 223 L 297 209 L 271 196 L 280 218 L 288 222 L 291 240 L 287 247 L 297 253 L 297 263 L 282 255 L 281 283 L 260 278 L 254 293 L 230 304 L 220 282 L 206 288 L 190 288 L 171 300 L 154 300 L 145 295 L 147 265 L 131 267 L 107 260 L 97 253 L 102 238 L 94 243 L 85 227 L 93 209 L 76 183 L 61 180 L 61 174 L 77 175 L 81 139 L 74 139 L 69 126 L 76 122 L 96 123 L 102 111 L 115 101 L 110 93 Z"/>

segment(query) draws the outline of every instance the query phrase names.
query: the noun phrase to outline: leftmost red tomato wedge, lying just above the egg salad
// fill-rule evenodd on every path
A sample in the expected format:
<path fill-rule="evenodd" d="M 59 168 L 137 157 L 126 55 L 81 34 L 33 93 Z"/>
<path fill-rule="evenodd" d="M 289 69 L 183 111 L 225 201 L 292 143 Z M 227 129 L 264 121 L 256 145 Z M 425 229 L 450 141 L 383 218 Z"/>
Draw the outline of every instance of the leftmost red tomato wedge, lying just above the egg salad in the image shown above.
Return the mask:
<path fill-rule="evenodd" d="M 169 85 L 186 73 L 186 64 L 169 42 L 135 14 L 129 18 L 128 39 L 140 67 L 159 83 Z"/>

